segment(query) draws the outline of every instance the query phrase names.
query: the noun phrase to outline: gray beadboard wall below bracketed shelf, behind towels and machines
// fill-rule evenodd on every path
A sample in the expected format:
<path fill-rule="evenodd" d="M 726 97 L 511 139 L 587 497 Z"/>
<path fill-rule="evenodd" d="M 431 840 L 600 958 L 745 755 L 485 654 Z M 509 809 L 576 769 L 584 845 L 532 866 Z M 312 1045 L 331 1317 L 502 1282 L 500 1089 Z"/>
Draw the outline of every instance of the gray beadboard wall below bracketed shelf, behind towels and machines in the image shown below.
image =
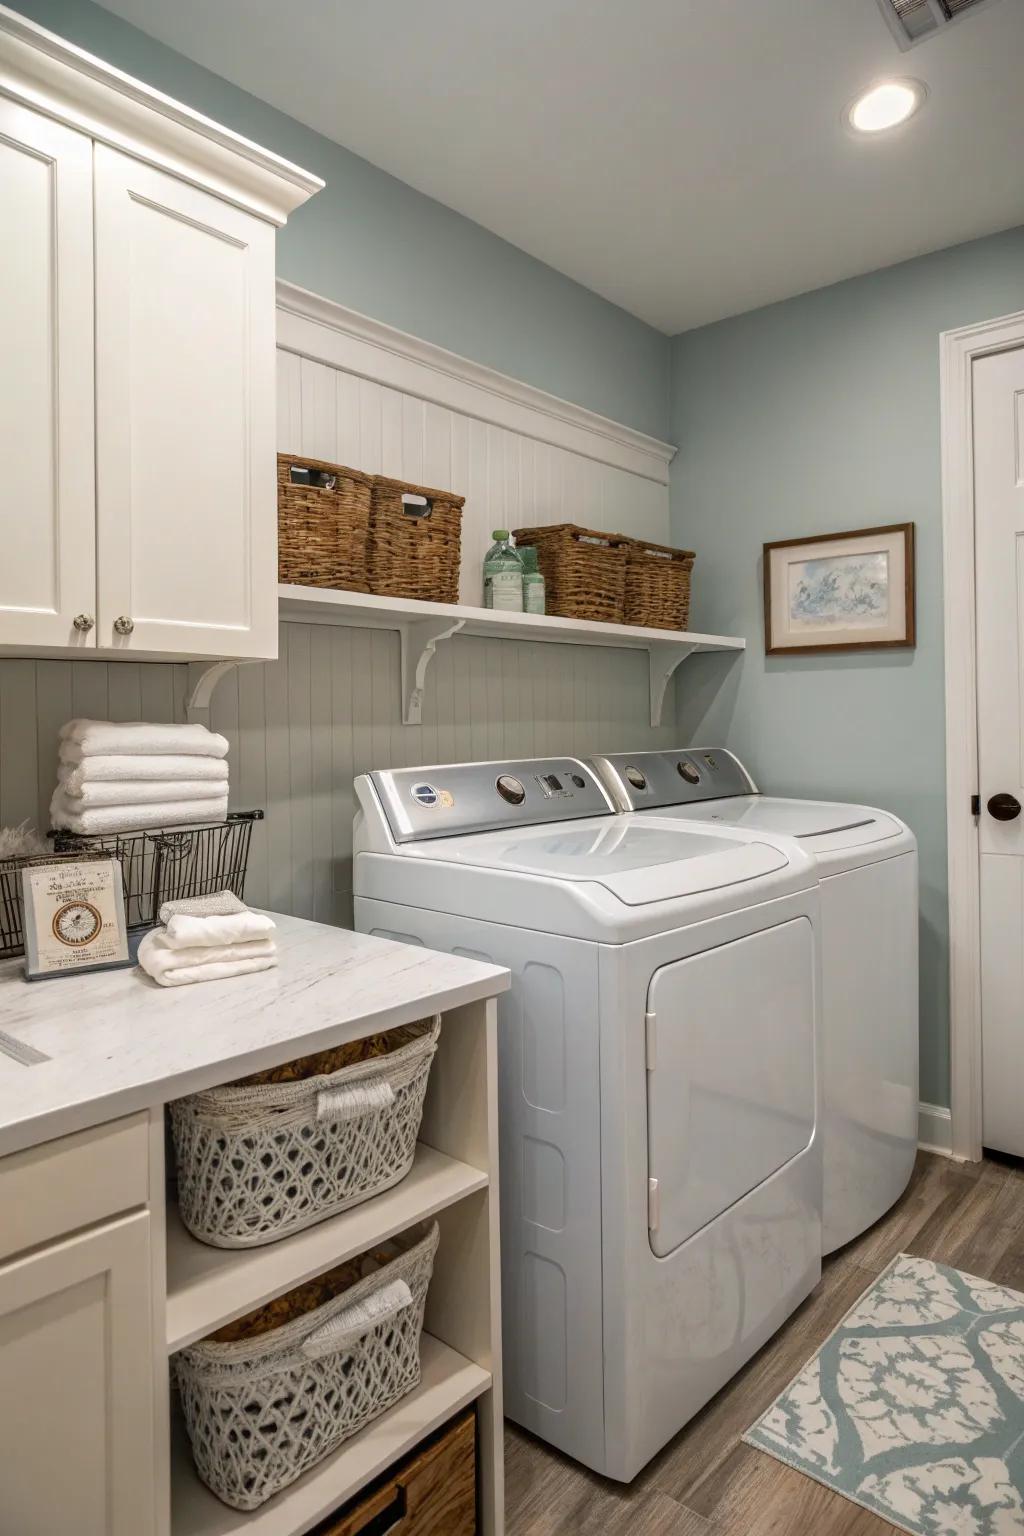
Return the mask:
<path fill-rule="evenodd" d="M 46 826 L 64 720 L 183 720 L 190 671 L 0 660 L 0 825 Z M 396 633 L 284 624 L 279 659 L 238 667 L 210 710 L 230 740 L 232 808 L 267 813 L 246 897 L 352 923 L 352 782 L 368 768 L 672 746 L 672 690 L 663 719 L 651 728 L 643 651 L 456 637 L 430 667 L 425 723 L 402 725 Z"/>

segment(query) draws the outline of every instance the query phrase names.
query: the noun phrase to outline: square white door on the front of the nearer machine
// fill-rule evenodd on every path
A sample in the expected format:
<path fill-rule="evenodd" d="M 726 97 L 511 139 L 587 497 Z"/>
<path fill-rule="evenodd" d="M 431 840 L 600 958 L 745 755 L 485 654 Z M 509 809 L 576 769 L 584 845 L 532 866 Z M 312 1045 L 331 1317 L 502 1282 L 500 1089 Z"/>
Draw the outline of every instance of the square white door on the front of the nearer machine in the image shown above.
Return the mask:
<path fill-rule="evenodd" d="M 659 1258 L 811 1143 L 814 989 L 806 917 L 654 972 L 648 1158 Z"/>

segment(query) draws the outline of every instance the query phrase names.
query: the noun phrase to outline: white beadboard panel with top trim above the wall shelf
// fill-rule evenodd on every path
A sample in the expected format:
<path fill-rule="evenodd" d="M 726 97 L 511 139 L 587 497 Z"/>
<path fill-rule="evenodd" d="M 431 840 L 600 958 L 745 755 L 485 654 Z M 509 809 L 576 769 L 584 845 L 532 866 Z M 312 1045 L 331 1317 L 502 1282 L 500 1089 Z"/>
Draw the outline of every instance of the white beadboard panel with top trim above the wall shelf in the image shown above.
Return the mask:
<path fill-rule="evenodd" d="M 465 496 L 465 604 L 482 601 L 494 528 L 579 522 L 669 536 L 669 444 L 286 283 L 278 452 Z"/>

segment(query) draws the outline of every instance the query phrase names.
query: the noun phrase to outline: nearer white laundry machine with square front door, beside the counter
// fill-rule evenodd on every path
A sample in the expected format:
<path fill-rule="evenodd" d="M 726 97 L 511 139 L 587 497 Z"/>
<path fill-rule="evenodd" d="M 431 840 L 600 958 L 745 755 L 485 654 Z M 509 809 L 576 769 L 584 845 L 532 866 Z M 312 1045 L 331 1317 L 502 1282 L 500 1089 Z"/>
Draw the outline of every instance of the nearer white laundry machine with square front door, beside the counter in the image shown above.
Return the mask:
<path fill-rule="evenodd" d="M 574 759 L 356 779 L 356 926 L 507 966 L 505 1410 L 629 1481 L 820 1275 L 818 889 Z"/>

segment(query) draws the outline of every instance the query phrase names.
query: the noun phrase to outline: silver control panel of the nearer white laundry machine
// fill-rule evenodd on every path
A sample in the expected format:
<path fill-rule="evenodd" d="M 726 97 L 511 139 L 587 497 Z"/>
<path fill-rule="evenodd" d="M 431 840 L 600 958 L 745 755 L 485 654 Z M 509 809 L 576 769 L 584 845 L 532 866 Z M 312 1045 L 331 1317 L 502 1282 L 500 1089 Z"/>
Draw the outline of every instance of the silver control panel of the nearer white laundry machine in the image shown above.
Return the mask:
<path fill-rule="evenodd" d="M 594 770 L 576 757 L 391 768 L 370 780 L 399 843 L 614 814 Z"/>

